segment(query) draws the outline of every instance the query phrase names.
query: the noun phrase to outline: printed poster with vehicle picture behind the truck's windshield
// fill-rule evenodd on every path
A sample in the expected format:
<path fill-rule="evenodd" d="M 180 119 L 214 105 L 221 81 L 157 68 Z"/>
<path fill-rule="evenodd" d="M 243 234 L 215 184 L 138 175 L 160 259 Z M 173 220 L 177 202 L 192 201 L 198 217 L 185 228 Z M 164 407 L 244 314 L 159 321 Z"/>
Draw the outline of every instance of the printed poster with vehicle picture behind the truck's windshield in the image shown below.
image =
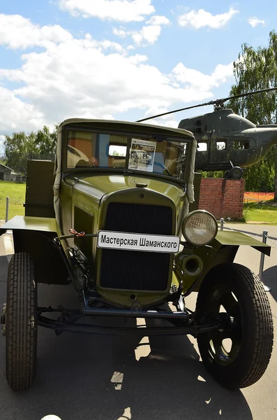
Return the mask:
<path fill-rule="evenodd" d="M 132 139 L 128 169 L 153 172 L 156 141 Z"/>

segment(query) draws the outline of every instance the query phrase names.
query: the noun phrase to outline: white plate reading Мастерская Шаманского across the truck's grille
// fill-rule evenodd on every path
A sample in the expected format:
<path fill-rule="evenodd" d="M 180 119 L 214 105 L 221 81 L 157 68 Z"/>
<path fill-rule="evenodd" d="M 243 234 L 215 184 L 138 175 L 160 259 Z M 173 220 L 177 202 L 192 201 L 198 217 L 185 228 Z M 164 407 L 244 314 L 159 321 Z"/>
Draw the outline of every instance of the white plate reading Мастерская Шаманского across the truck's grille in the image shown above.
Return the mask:
<path fill-rule="evenodd" d="M 129 251 L 177 253 L 180 238 L 99 230 L 97 246 L 98 248 L 126 249 Z"/>

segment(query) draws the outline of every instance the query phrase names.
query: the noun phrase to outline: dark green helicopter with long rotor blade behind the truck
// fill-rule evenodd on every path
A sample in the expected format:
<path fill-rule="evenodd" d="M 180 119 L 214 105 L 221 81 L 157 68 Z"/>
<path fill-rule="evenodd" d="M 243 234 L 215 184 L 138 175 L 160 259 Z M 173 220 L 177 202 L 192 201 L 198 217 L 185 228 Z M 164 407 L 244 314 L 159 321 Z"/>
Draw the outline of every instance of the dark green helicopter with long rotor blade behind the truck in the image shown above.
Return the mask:
<path fill-rule="evenodd" d="M 244 169 L 260 162 L 277 144 L 277 125 L 255 125 L 232 109 L 223 108 L 230 99 L 277 90 L 277 87 L 237 94 L 186 108 L 143 118 L 137 123 L 179 111 L 214 105 L 214 111 L 181 120 L 178 128 L 193 132 L 197 141 L 195 170 L 225 171 L 225 178 L 240 179 Z"/>

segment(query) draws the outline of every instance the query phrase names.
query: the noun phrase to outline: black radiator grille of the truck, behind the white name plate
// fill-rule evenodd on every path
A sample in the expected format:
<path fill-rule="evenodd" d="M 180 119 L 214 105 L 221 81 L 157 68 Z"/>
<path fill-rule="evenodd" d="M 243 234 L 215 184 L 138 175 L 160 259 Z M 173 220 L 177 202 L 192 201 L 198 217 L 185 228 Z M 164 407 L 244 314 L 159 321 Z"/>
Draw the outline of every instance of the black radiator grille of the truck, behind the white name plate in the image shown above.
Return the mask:
<path fill-rule="evenodd" d="M 104 230 L 172 235 L 172 209 L 110 203 Z M 169 269 L 168 253 L 102 249 L 100 284 L 127 290 L 165 290 Z"/>

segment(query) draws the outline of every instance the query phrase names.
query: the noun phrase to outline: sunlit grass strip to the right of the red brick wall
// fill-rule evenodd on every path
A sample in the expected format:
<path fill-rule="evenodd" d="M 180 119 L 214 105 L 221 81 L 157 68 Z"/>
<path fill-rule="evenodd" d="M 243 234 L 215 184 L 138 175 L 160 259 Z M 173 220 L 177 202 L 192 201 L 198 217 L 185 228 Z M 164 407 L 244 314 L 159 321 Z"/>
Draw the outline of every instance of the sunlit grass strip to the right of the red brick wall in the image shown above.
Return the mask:
<path fill-rule="evenodd" d="M 267 202 L 250 202 L 244 204 L 244 219 L 251 223 L 269 223 L 277 225 L 277 202 L 269 200 Z"/>

